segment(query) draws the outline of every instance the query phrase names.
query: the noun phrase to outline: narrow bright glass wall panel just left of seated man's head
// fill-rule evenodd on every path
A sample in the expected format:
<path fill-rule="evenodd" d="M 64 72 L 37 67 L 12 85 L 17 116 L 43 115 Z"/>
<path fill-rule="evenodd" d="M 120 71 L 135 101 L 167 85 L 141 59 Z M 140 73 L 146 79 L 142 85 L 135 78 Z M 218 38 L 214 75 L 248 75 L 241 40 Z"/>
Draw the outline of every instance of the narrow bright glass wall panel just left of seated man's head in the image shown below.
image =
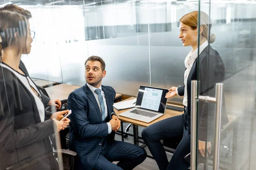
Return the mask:
<path fill-rule="evenodd" d="M 71 3 L 71 2 L 70 2 Z M 87 59 L 86 25 L 83 3 L 81 5 L 58 6 L 55 10 L 58 35 L 62 37 L 56 51 L 60 56 L 63 83 L 83 86 L 84 61 Z M 72 15 L 71 15 L 72 14 Z"/>

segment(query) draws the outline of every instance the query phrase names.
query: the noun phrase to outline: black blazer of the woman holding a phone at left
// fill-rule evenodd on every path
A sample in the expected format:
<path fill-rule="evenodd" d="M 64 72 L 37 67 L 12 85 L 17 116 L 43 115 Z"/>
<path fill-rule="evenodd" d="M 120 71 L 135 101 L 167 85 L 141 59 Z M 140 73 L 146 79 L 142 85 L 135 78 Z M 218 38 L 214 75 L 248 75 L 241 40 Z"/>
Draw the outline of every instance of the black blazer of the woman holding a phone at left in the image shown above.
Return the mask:
<path fill-rule="evenodd" d="M 56 170 L 49 135 L 49 113 L 41 122 L 35 99 L 22 82 L 0 66 L 0 169 Z"/>

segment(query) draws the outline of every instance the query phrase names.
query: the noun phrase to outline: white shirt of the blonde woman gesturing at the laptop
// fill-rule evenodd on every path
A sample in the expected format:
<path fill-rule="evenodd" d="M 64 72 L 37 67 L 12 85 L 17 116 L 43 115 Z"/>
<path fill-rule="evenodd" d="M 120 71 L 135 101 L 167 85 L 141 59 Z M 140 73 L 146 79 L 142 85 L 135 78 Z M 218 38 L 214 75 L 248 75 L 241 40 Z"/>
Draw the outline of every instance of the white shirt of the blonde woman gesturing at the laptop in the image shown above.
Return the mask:
<path fill-rule="evenodd" d="M 204 48 L 206 48 L 208 45 L 208 41 L 205 41 L 203 44 L 200 45 L 199 47 L 199 55 L 201 54 L 201 52 L 204 50 Z M 187 94 L 187 81 L 188 81 L 188 76 L 189 76 L 189 72 L 192 68 L 192 65 L 195 62 L 195 59 L 198 57 L 198 48 L 196 48 L 195 51 L 193 51 L 193 49 L 189 52 L 189 54 L 187 55 L 187 57 L 185 58 L 184 64 L 186 67 L 185 73 L 184 73 L 184 98 L 183 98 L 183 105 L 184 106 L 188 106 L 188 94 Z M 178 88 L 176 88 L 176 94 L 178 96 L 180 96 L 178 94 Z"/>

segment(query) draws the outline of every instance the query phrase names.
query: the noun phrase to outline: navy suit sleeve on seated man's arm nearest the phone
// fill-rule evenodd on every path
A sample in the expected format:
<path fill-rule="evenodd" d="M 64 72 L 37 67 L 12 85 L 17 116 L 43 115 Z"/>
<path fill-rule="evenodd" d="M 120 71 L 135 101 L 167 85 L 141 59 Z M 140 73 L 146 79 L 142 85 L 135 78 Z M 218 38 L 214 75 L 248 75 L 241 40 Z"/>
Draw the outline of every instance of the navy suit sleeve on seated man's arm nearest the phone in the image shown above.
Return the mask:
<path fill-rule="evenodd" d="M 107 123 L 90 124 L 87 119 L 86 104 L 84 99 L 79 94 L 72 92 L 67 99 L 67 107 L 72 110 L 69 116 L 73 125 L 74 131 L 80 135 L 81 138 L 92 138 L 99 136 L 108 136 Z"/>

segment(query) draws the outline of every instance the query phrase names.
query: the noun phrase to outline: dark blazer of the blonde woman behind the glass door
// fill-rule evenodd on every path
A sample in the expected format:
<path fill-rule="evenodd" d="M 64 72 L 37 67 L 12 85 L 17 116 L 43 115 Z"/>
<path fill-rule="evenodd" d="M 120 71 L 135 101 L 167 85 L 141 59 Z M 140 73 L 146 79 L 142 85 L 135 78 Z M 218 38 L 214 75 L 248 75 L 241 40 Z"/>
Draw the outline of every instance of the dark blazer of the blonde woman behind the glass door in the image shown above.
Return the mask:
<path fill-rule="evenodd" d="M 199 64 L 199 65 L 198 65 Z M 197 74 L 198 68 L 198 74 Z M 215 97 L 215 84 L 223 82 L 225 77 L 224 63 L 216 50 L 207 46 L 195 59 L 187 80 L 188 112 L 185 114 L 185 122 L 191 131 L 191 81 L 199 80 L 199 95 Z M 183 77 L 184 79 L 184 77 Z M 184 86 L 178 88 L 178 94 L 184 96 Z M 213 141 L 215 131 L 215 104 L 204 101 L 199 102 L 198 108 L 198 135 L 201 141 Z M 228 123 L 225 100 L 222 103 L 221 125 Z"/>

